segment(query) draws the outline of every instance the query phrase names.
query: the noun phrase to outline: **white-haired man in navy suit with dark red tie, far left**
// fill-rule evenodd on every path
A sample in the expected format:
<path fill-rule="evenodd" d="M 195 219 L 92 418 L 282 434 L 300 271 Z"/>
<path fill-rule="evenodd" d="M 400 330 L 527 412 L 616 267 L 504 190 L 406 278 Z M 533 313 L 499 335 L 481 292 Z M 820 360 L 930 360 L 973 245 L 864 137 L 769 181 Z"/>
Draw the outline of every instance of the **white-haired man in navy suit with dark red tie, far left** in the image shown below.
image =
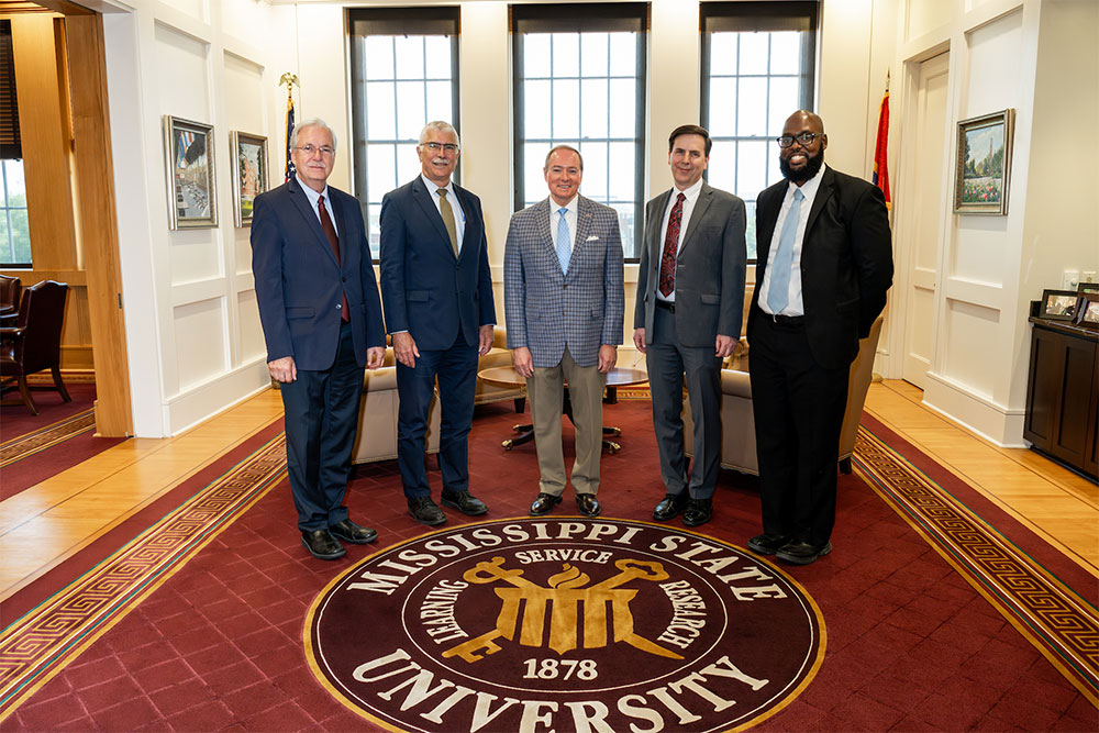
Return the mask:
<path fill-rule="evenodd" d="M 282 393 L 301 543 L 335 559 L 345 553 L 340 540 L 378 536 L 351 521 L 343 499 L 363 371 L 381 366 L 385 326 L 359 203 L 326 184 L 335 134 L 323 120 L 306 120 L 290 147 L 296 176 L 255 200 L 252 271 L 267 370 Z"/>

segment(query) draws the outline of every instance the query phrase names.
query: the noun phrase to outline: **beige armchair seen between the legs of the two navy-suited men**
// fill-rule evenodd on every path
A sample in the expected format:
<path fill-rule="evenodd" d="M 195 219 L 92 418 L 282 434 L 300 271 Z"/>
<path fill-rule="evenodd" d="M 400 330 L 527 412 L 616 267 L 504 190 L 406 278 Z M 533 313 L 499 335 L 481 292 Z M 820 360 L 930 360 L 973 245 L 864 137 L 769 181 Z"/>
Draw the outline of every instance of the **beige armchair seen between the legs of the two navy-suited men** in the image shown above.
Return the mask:
<path fill-rule="evenodd" d="M 393 349 L 386 349 L 384 366 L 367 369 L 363 377 L 363 399 L 358 409 L 358 435 L 352 453 L 353 464 L 388 460 L 397 457 L 397 362 Z M 428 453 L 439 453 L 439 392 L 428 415 Z"/>

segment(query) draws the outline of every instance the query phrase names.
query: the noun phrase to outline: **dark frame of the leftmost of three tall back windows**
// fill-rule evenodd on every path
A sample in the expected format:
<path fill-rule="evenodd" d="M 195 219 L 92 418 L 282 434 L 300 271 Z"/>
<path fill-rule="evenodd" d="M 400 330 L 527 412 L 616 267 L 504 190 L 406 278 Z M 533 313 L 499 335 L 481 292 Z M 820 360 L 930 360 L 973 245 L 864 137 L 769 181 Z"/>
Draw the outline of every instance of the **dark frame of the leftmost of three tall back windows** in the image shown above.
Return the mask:
<path fill-rule="evenodd" d="M 370 200 L 371 189 L 367 174 L 366 149 L 371 142 L 386 145 L 406 145 L 409 142 L 419 143 L 419 140 L 409 141 L 395 136 L 392 140 L 377 138 L 371 141 L 367 137 L 367 119 L 369 116 L 365 93 L 367 79 L 359 74 L 363 65 L 358 58 L 355 40 L 356 37 L 367 37 L 368 35 L 446 36 L 451 44 L 451 109 L 453 118 L 447 120 L 447 122 L 454 125 L 460 140 L 462 127 L 459 121 L 462 112 L 459 107 L 460 76 L 458 56 L 462 34 L 462 9 L 457 5 L 432 5 L 430 8 L 348 8 L 346 11 L 346 23 L 347 58 L 349 65 L 348 79 L 351 81 L 351 141 L 348 141 L 347 147 L 351 154 L 352 187 L 363 209 L 363 221 L 366 224 L 367 244 L 369 244 L 370 206 L 371 203 L 380 204 L 382 196 L 388 193 L 388 190 L 381 191 L 381 196 L 378 196 L 376 201 Z M 426 76 L 426 69 L 424 70 L 424 78 L 425 80 L 430 78 Z M 359 92 L 360 89 L 363 90 L 362 93 Z M 426 95 L 426 90 L 424 93 Z M 393 109 L 396 112 L 396 102 Z M 431 120 L 424 120 L 424 122 L 431 122 Z M 462 158 L 459 156 L 458 164 L 452 177 L 454 182 L 460 185 L 460 176 Z M 402 186 L 406 182 L 398 180 L 397 186 Z M 375 264 L 379 262 L 373 252 L 370 256 L 371 262 Z"/>

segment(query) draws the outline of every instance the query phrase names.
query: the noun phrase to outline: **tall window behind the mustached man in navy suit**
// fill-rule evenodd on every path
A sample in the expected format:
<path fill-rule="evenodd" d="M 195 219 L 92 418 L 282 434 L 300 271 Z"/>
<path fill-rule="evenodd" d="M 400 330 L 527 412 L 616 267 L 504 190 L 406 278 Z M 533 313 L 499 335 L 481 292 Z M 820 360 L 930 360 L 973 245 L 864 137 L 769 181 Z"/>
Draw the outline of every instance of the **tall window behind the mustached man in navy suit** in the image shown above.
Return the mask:
<path fill-rule="evenodd" d="M 420 130 L 458 126 L 458 9 L 356 9 L 348 20 L 355 196 L 377 259 L 381 198 L 420 174 Z"/>

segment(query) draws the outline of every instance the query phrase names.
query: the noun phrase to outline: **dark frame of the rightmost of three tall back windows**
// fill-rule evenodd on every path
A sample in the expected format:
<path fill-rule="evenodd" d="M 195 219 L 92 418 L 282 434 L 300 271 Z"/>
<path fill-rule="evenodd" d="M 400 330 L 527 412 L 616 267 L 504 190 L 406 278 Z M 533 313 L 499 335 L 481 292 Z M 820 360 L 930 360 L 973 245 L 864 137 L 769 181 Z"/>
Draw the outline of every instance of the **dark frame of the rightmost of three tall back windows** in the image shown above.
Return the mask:
<path fill-rule="evenodd" d="M 746 1 L 746 2 L 702 2 L 699 7 L 699 35 L 700 35 L 700 84 L 699 90 L 699 115 L 702 124 L 710 121 L 710 57 L 711 57 L 711 34 L 715 32 L 751 32 L 751 31 L 800 31 L 806 33 L 802 45 L 802 63 L 798 71 L 801 79 L 801 93 L 799 107 L 801 109 L 813 109 L 813 100 L 817 93 L 817 49 L 820 44 L 820 13 L 821 3 L 819 0 L 790 0 L 787 2 Z M 808 27 L 798 27 L 799 24 L 808 23 Z M 764 78 L 771 78 L 769 73 Z M 761 75 L 736 75 L 761 76 Z M 787 76 L 787 75 L 781 75 Z M 769 101 L 769 100 L 768 100 Z M 769 109 L 769 104 L 766 105 Z M 793 110 L 790 110 L 793 112 Z M 764 140 L 768 144 L 774 143 L 774 138 L 781 131 L 768 131 L 767 134 L 759 135 L 719 135 L 714 136 L 712 131 L 710 137 L 714 142 L 739 142 Z M 777 148 L 776 148 L 777 154 Z M 740 165 L 737 158 L 734 166 Z M 769 169 L 769 168 L 768 168 Z M 736 180 L 737 168 L 734 168 L 733 180 Z M 707 168 L 706 176 L 709 180 L 710 169 Z M 769 185 L 769 184 L 768 184 Z M 735 191 L 734 191 L 735 192 Z M 757 192 L 758 193 L 758 192 Z M 745 199 L 746 203 L 755 203 L 755 198 Z M 754 230 L 753 222 L 748 222 L 748 227 Z M 758 246 L 757 246 L 758 251 Z M 756 258 L 752 257 L 748 264 L 755 264 Z"/>

